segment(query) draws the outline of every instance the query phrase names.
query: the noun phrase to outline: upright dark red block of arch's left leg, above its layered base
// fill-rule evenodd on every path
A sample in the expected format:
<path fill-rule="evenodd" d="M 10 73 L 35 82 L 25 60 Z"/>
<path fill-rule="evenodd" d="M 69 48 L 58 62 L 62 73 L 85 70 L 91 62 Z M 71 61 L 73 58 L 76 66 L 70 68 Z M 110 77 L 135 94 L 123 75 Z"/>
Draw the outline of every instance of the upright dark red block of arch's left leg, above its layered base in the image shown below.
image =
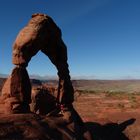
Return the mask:
<path fill-rule="evenodd" d="M 31 84 L 26 68 L 15 67 L 11 74 L 11 96 L 21 102 L 31 102 Z"/>

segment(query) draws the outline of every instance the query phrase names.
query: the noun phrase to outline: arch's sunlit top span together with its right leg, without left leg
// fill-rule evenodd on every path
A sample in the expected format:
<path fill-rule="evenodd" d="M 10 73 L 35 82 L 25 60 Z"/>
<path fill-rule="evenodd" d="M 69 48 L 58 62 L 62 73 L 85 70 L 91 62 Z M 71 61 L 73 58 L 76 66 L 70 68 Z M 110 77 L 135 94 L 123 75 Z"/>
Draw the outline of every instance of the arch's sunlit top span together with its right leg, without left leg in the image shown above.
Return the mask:
<path fill-rule="evenodd" d="M 19 32 L 13 45 L 13 64 L 27 66 L 39 50 L 50 58 L 58 70 L 58 103 L 71 104 L 74 100 L 74 90 L 67 64 L 67 49 L 61 37 L 61 30 L 44 14 L 34 14 Z"/>

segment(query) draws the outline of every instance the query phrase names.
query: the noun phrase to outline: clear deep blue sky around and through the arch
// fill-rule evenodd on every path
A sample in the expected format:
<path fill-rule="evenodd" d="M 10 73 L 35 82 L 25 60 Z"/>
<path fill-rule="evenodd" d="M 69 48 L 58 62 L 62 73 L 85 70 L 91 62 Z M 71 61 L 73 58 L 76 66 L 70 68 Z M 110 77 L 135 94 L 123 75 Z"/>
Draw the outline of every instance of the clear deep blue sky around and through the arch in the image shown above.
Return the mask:
<path fill-rule="evenodd" d="M 33 13 L 45 13 L 62 30 L 72 77 L 140 79 L 140 0 L 0 0 L 0 73 L 10 74 L 12 45 Z M 57 75 L 43 53 L 30 75 Z"/>

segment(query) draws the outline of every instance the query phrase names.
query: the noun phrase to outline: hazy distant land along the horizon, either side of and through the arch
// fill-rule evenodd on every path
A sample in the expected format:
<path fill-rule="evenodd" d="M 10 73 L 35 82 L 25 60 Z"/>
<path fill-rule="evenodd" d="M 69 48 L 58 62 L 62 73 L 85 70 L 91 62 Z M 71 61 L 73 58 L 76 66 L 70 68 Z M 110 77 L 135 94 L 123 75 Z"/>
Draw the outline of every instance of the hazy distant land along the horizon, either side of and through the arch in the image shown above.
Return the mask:
<path fill-rule="evenodd" d="M 8 77 L 7 74 L 0 74 L 0 90 Z M 82 79 L 83 78 L 83 79 Z M 127 92 L 127 93 L 140 93 L 140 80 L 84 80 L 86 77 L 72 78 L 72 83 L 75 89 L 84 91 L 97 91 L 97 92 Z M 33 85 L 43 84 L 58 84 L 56 76 L 39 76 L 30 75 L 31 83 Z M 75 80 L 74 80 L 75 79 Z"/>

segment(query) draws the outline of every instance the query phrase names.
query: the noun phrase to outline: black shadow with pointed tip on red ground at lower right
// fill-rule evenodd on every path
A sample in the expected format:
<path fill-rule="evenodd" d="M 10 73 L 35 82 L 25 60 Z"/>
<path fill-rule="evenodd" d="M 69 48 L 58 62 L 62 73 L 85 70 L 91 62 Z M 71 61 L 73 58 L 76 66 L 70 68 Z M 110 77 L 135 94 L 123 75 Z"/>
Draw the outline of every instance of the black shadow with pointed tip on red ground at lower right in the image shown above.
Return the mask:
<path fill-rule="evenodd" d="M 132 118 L 120 124 L 107 123 L 105 125 L 96 122 L 86 122 L 86 126 L 92 134 L 93 140 L 129 140 L 123 131 L 135 121 L 136 119 Z"/>

